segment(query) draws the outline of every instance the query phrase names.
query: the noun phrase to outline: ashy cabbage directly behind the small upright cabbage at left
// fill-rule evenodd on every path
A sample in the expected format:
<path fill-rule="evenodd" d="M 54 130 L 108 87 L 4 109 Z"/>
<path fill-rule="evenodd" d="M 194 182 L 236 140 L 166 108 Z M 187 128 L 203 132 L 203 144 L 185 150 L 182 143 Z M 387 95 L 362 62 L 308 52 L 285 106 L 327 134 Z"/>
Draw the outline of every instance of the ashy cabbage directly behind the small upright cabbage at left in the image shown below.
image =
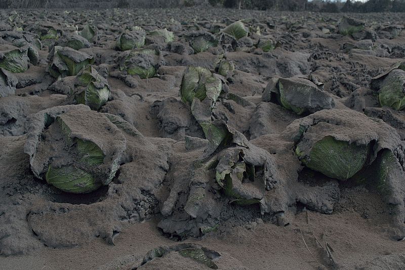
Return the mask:
<path fill-rule="evenodd" d="M 94 63 L 90 55 L 76 51 L 69 47 L 55 46 L 49 55 L 50 66 L 48 72 L 55 78 L 75 76 L 80 70 Z"/>

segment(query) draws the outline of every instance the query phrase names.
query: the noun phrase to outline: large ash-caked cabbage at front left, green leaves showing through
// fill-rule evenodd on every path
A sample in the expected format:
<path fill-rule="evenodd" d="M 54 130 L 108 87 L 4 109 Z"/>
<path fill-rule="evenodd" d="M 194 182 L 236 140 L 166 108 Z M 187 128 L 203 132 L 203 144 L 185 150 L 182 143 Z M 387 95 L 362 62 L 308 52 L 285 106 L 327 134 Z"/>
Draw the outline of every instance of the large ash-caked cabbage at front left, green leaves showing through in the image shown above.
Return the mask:
<path fill-rule="evenodd" d="M 108 185 L 126 149 L 120 130 L 84 105 L 59 106 L 28 120 L 24 151 L 34 175 L 68 193 Z"/>

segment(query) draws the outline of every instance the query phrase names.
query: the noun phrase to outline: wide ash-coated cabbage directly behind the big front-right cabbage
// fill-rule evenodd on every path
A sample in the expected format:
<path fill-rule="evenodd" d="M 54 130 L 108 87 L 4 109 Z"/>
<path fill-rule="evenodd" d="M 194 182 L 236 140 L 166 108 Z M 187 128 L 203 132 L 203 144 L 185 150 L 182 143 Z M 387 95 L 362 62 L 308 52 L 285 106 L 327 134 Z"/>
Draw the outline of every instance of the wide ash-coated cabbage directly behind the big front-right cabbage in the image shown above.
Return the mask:
<path fill-rule="evenodd" d="M 303 76 L 288 79 L 273 77 L 266 86 L 262 100 L 276 100 L 284 108 L 297 114 L 334 108 L 335 102 L 323 91 L 323 84 L 315 78 L 311 79 Z"/>

